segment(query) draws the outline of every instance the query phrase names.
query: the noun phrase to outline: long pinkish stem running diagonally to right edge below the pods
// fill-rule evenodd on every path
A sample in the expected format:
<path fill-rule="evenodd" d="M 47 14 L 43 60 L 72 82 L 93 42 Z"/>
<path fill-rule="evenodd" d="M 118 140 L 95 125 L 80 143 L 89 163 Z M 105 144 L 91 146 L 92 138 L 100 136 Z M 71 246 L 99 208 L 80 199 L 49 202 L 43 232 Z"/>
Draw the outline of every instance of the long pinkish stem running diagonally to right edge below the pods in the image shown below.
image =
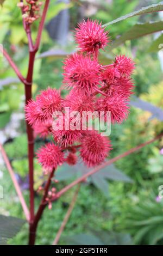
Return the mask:
<path fill-rule="evenodd" d="M 87 177 L 91 176 L 94 173 L 97 173 L 99 170 L 103 169 L 106 166 L 109 166 L 110 164 L 122 159 L 122 157 L 128 156 L 131 153 L 134 153 L 135 151 L 145 147 L 146 145 L 157 141 L 158 139 L 160 139 L 163 136 L 163 133 L 161 133 L 160 135 L 156 136 L 154 139 L 151 139 L 151 141 L 147 141 L 145 143 L 142 143 L 140 145 L 138 145 L 135 148 L 132 148 L 126 152 L 124 152 L 121 155 L 118 155 L 116 157 L 114 157 L 113 159 L 106 161 L 104 163 L 102 163 L 100 166 L 97 166 L 96 168 L 90 170 L 90 172 L 84 174 L 82 177 L 78 178 L 77 180 L 73 181 L 71 184 L 67 185 L 66 187 L 64 187 L 62 190 L 60 190 L 58 193 L 55 194 L 55 197 L 52 199 L 52 201 L 57 200 L 60 196 L 62 196 L 62 194 L 64 194 L 65 192 L 67 192 L 68 190 L 70 190 L 70 188 L 72 188 L 73 186 L 76 186 L 78 183 L 82 182 L 83 180 L 85 180 Z"/>

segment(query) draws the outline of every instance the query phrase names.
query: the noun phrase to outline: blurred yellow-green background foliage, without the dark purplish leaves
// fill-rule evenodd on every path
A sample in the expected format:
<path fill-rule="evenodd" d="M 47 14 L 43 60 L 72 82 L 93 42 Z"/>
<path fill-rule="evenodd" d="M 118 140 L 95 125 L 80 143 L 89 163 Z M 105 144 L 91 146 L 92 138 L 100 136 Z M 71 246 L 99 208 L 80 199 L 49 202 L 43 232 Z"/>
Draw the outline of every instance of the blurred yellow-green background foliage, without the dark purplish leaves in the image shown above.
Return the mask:
<path fill-rule="evenodd" d="M 78 14 L 81 13 L 80 4 L 57 3 L 51 1 L 47 21 L 57 15 L 60 10 L 70 8 L 71 28 L 77 25 Z M 142 4 L 142 1 L 134 0 L 115 0 L 108 4 L 106 1 L 98 1 L 99 7 L 91 18 L 98 19 L 102 23 L 109 22 L 122 15 L 130 13 Z M 148 1 L 152 4 L 153 1 Z M 158 3 L 159 1 L 154 1 Z M 17 1 L 5 0 L 3 8 L 0 7 L 0 43 L 3 42 L 11 57 L 16 61 L 23 74 L 27 71 L 28 50 L 27 39 L 22 29 L 21 11 L 15 8 Z M 86 16 L 86 15 L 84 15 Z M 158 21 L 157 14 L 148 14 L 144 16 L 133 17 L 114 25 L 109 26 L 111 40 L 127 32 L 136 22 Z M 36 36 L 38 22 L 33 27 L 33 38 Z M 70 41 L 73 41 L 71 38 Z M 134 57 L 136 62 L 136 71 L 133 75 L 135 81 L 135 93 L 141 99 L 151 102 L 162 108 L 163 106 L 163 87 L 162 72 L 158 54 L 148 52 L 149 47 L 153 44 L 153 35 L 148 35 L 141 39 L 126 41 L 123 45 L 114 50 L 111 47 L 101 54 L 100 61 L 109 63 L 114 59 L 116 54 L 127 54 Z M 65 46 L 68 51 L 74 47 Z M 43 32 L 42 45 L 38 56 L 46 52 L 49 48 L 59 47 L 56 42 L 49 38 L 46 29 Z M 1 58 L 1 82 L 7 77 L 15 77 L 14 72 L 10 69 L 4 58 Z M 37 58 L 34 69 L 34 96 L 41 89 L 48 86 L 60 88 L 62 84 L 62 60 L 63 58 L 51 56 L 48 58 Z M 0 128 L 4 127 L 10 120 L 10 114 L 15 111 L 22 111 L 22 84 L 18 82 L 9 82 L 0 87 Z M 63 92 L 65 94 L 65 91 Z M 19 110 L 18 110 L 19 109 Z M 129 118 L 122 125 L 114 125 L 111 128 L 111 141 L 114 150 L 110 157 L 117 156 L 136 145 L 148 141 L 163 130 L 162 123 L 156 119 L 150 119 L 151 114 L 143 112 L 140 109 L 131 108 Z M 21 130 L 25 132 L 24 123 Z M 43 141 L 36 139 L 35 151 Z M 26 134 L 15 138 L 12 142 L 5 144 L 5 150 L 11 160 L 15 172 L 21 176 L 23 181 L 27 178 L 27 138 Z M 160 149 L 163 148 L 163 141 L 147 145 L 145 148 L 136 153 L 127 156 L 116 162 L 116 167 L 123 173 L 130 176 L 134 181 L 132 184 L 120 181 L 109 181 L 108 197 L 104 197 L 101 191 L 92 184 L 86 182 L 80 188 L 77 204 L 72 212 L 64 233 L 61 236 L 60 244 L 65 245 L 67 236 L 74 236 L 80 233 L 106 232 L 112 234 L 129 233 L 133 237 L 135 244 L 163 244 L 162 230 L 163 218 L 162 201 L 156 200 L 158 196 L 158 187 L 163 184 L 162 173 L 162 155 Z M 35 168 L 35 190 L 42 182 L 42 169 L 34 161 Z M 67 169 L 68 171 L 68 169 Z M 19 216 L 23 218 L 20 203 L 8 176 L 7 170 L 4 170 L 2 186 L 4 187 L 4 200 L 0 213 L 4 215 Z M 100 173 L 99 173 L 100 175 Z M 72 179 L 72 178 L 71 178 Z M 57 184 L 57 190 L 68 184 L 70 180 L 60 181 Z M 23 191 L 28 202 L 28 191 Z M 68 191 L 60 200 L 54 203 L 52 210 L 46 209 L 42 220 L 39 224 L 36 244 L 51 245 L 55 234 L 57 233 L 61 222 L 66 214 L 68 205 L 71 202 L 73 190 Z M 36 207 L 39 205 L 40 196 L 36 193 Z M 96 230 L 92 231 L 92 230 Z M 27 244 L 28 226 L 25 224 L 21 232 L 10 244 L 26 245 Z M 101 233 L 102 236 L 102 233 Z"/>

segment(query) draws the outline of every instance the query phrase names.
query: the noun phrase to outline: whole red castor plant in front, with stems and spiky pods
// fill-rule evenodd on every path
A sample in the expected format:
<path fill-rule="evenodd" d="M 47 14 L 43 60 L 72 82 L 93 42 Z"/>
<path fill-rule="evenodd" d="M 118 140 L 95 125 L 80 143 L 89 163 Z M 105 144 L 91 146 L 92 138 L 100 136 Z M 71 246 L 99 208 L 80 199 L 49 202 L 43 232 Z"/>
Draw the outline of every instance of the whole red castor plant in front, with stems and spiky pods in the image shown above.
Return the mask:
<path fill-rule="evenodd" d="M 6 3 L 6 4 L 5 4 Z M 63 101 L 60 96 L 60 92 L 55 89 L 48 88 L 41 92 L 40 95 L 36 96 L 36 101 L 32 100 L 32 84 L 33 84 L 33 71 L 35 64 L 35 54 L 39 50 L 41 35 L 43 32 L 43 26 L 45 23 L 45 18 L 47 10 L 49 7 L 49 0 L 45 0 L 43 4 L 43 10 L 41 10 L 42 2 L 40 1 L 20 1 L 17 5 L 22 11 L 23 20 L 23 33 L 27 35 L 28 42 L 28 53 L 29 53 L 29 63 L 27 75 L 24 76 L 20 69 L 18 69 L 15 62 L 11 59 L 7 51 L 4 50 L 2 45 L 0 50 L 3 52 L 4 57 L 8 60 L 10 66 L 15 71 L 16 75 L 20 81 L 24 84 L 25 95 L 26 95 L 26 119 L 27 121 L 27 137 L 28 137 L 28 162 L 29 162 L 29 191 L 30 191 L 30 209 L 26 205 L 24 198 L 22 196 L 20 187 L 13 175 L 13 170 L 8 161 L 8 157 L 1 145 L 1 151 L 4 160 L 7 164 L 9 172 L 12 176 L 16 191 L 18 192 L 24 214 L 26 215 L 27 221 L 29 222 L 29 245 L 34 245 L 37 224 L 43 214 L 43 210 L 46 206 L 49 209 L 52 208 L 52 202 L 58 200 L 62 194 L 64 194 L 71 187 L 83 182 L 86 178 L 92 174 L 97 173 L 102 168 L 114 163 L 117 160 L 122 159 L 143 147 L 145 145 L 154 142 L 155 140 L 161 138 L 162 134 L 151 139 L 151 141 L 140 144 L 139 146 L 129 149 L 125 153 L 114 157 L 110 161 L 104 162 L 105 157 L 110 151 L 109 140 L 102 137 L 101 134 L 93 132 L 74 131 L 74 130 L 54 130 L 52 132 L 52 114 L 54 111 L 62 111 L 63 106 L 71 105 L 71 110 L 79 110 L 84 107 L 90 110 L 97 109 L 98 111 L 111 111 L 111 121 L 112 123 L 121 123 L 123 119 L 126 119 L 128 115 L 128 100 L 131 94 L 131 89 L 133 89 L 133 83 L 130 80 L 130 75 L 134 70 L 133 61 L 124 55 L 116 56 L 114 62 L 110 65 L 102 65 L 98 63 L 98 53 L 100 48 L 104 48 L 108 43 L 107 35 L 108 33 L 104 31 L 104 27 L 116 23 L 121 20 L 128 19 L 129 17 L 134 17 L 141 14 L 152 13 L 153 11 L 163 10 L 163 5 L 155 4 L 152 7 L 142 8 L 141 10 L 135 11 L 129 15 L 123 16 L 120 19 L 106 23 L 105 25 L 99 24 L 97 21 L 87 22 L 83 21 L 79 24 L 79 28 L 76 31 L 76 41 L 79 44 L 80 51 L 82 53 L 75 53 L 68 57 L 65 61 L 64 67 L 64 82 L 67 84 L 68 88 L 73 88 L 71 93 Z M 14 4 L 16 4 L 14 2 Z M 4 7 L 8 7 L 8 1 L 4 2 Z M 65 8 L 65 7 L 64 7 Z M 15 10 L 15 9 L 14 9 Z M 17 13 L 18 9 L 16 9 Z M 15 14 L 17 16 L 17 14 Z M 21 15 L 18 15 L 21 18 Z M 12 26 L 12 23 L 8 20 L 7 23 Z M 35 27 L 35 21 L 40 19 L 39 26 Z M 3 22 L 5 18 L 3 17 Z M 8 24 L 8 26 L 9 26 Z M 155 25 L 158 25 L 155 28 Z M 32 31 L 34 28 L 34 36 L 32 36 Z M 135 25 L 133 27 L 133 34 L 129 32 L 122 35 L 120 38 L 116 39 L 112 47 L 118 46 L 125 42 L 126 40 L 131 40 L 139 38 L 148 33 L 154 33 L 155 31 L 162 30 L 162 23 L 157 22 L 157 24 L 146 23 L 141 25 L 141 31 L 139 31 L 140 25 Z M 94 33 L 96 31 L 96 34 Z M 36 36 L 35 36 L 36 32 Z M 134 34 L 135 33 L 135 34 Z M 20 33 L 21 35 L 21 33 Z M 24 38 L 24 35 L 23 35 Z M 20 36 L 20 41 L 22 40 Z M 20 42 L 18 41 L 18 42 Z M 35 41 L 35 42 L 34 42 Z M 83 54 L 86 52 L 87 54 Z M 101 95 L 97 97 L 96 95 Z M 78 100 L 77 100 L 77 97 Z M 95 99 L 96 100 L 95 100 Z M 95 104 L 95 107 L 93 107 Z M 77 109 L 76 109 L 77 108 Z M 79 108 L 79 109 L 78 109 Z M 40 122 L 40 123 L 39 123 Z M 44 122 L 44 123 L 43 123 Z M 35 214 L 34 210 L 34 134 L 40 134 L 45 137 L 49 132 L 53 133 L 55 144 L 48 143 L 45 147 L 41 147 L 37 157 L 39 162 L 42 164 L 45 175 L 48 175 L 45 186 L 39 187 L 39 191 L 42 193 L 41 203 L 37 212 Z M 75 144 L 74 142 L 81 142 L 82 144 Z M 52 181 L 57 182 L 53 179 L 54 171 L 57 166 L 61 165 L 63 162 L 68 164 L 75 164 L 77 162 L 76 152 L 80 148 L 80 155 L 83 161 L 88 167 L 96 166 L 99 163 L 101 165 L 90 170 L 86 174 L 82 175 L 76 181 L 72 182 L 70 185 L 62 188 L 61 191 L 56 192 L 56 188 L 53 186 L 51 188 Z M 68 155 L 64 155 L 65 150 L 68 151 Z M 65 158 L 66 157 L 66 158 Z"/>

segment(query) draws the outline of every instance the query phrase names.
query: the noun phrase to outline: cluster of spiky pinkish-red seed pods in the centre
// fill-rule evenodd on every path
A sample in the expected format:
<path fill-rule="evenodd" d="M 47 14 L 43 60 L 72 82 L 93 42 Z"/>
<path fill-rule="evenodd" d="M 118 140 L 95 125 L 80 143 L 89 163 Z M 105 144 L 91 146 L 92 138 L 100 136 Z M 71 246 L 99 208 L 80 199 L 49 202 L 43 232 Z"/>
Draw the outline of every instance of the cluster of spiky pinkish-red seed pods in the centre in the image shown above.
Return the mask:
<path fill-rule="evenodd" d="M 66 122 L 65 108 L 68 107 L 70 114 L 78 112 L 74 117 L 76 126 L 83 112 L 110 111 L 112 123 L 121 123 L 129 113 L 128 102 L 134 88 L 130 77 L 134 71 L 133 60 L 120 55 L 110 65 L 99 63 L 99 49 L 103 49 L 109 40 L 108 32 L 98 21 L 79 23 L 75 38 L 80 51 L 68 56 L 64 62 L 65 87 L 71 89 L 68 95 L 62 99 L 60 90 L 48 88 L 26 105 L 26 119 L 35 134 L 44 138 L 52 135 L 54 139 L 54 142 L 47 143 L 37 152 L 39 163 L 47 172 L 64 162 L 76 164 L 77 153 L 88 167 L 96 166 L 105 160 L 111 150 L 109 138 L 102 136 L 102 133 L 72 129 L 73 118 L 68 121 L 68 130 L 65 126 L 54 130 L 55 111 L 62 113 L 57 119 L 58 125 L 61 119 L 63 123 Z M 47 200 L 51 202 L 49 197 Z"/>

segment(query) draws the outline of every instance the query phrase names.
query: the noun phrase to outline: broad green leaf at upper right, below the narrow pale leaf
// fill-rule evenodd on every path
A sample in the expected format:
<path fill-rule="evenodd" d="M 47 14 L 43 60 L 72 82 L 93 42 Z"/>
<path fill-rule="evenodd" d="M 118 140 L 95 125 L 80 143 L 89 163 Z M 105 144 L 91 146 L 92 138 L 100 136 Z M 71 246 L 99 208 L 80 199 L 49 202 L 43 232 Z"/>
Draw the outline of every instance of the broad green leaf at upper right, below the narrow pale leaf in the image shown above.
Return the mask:
<path fill-rule="evenodd" d="M 127 40 L 140 38 L 141 36 L 152 34 L 163 30 L 163 21 L 158 22 L 146 22 L 133 26 L 128 32 L 124 33 L 120 38 L 116 39 L 111 48 L 115 48 L 118 45 L 123 44 Z"/>

